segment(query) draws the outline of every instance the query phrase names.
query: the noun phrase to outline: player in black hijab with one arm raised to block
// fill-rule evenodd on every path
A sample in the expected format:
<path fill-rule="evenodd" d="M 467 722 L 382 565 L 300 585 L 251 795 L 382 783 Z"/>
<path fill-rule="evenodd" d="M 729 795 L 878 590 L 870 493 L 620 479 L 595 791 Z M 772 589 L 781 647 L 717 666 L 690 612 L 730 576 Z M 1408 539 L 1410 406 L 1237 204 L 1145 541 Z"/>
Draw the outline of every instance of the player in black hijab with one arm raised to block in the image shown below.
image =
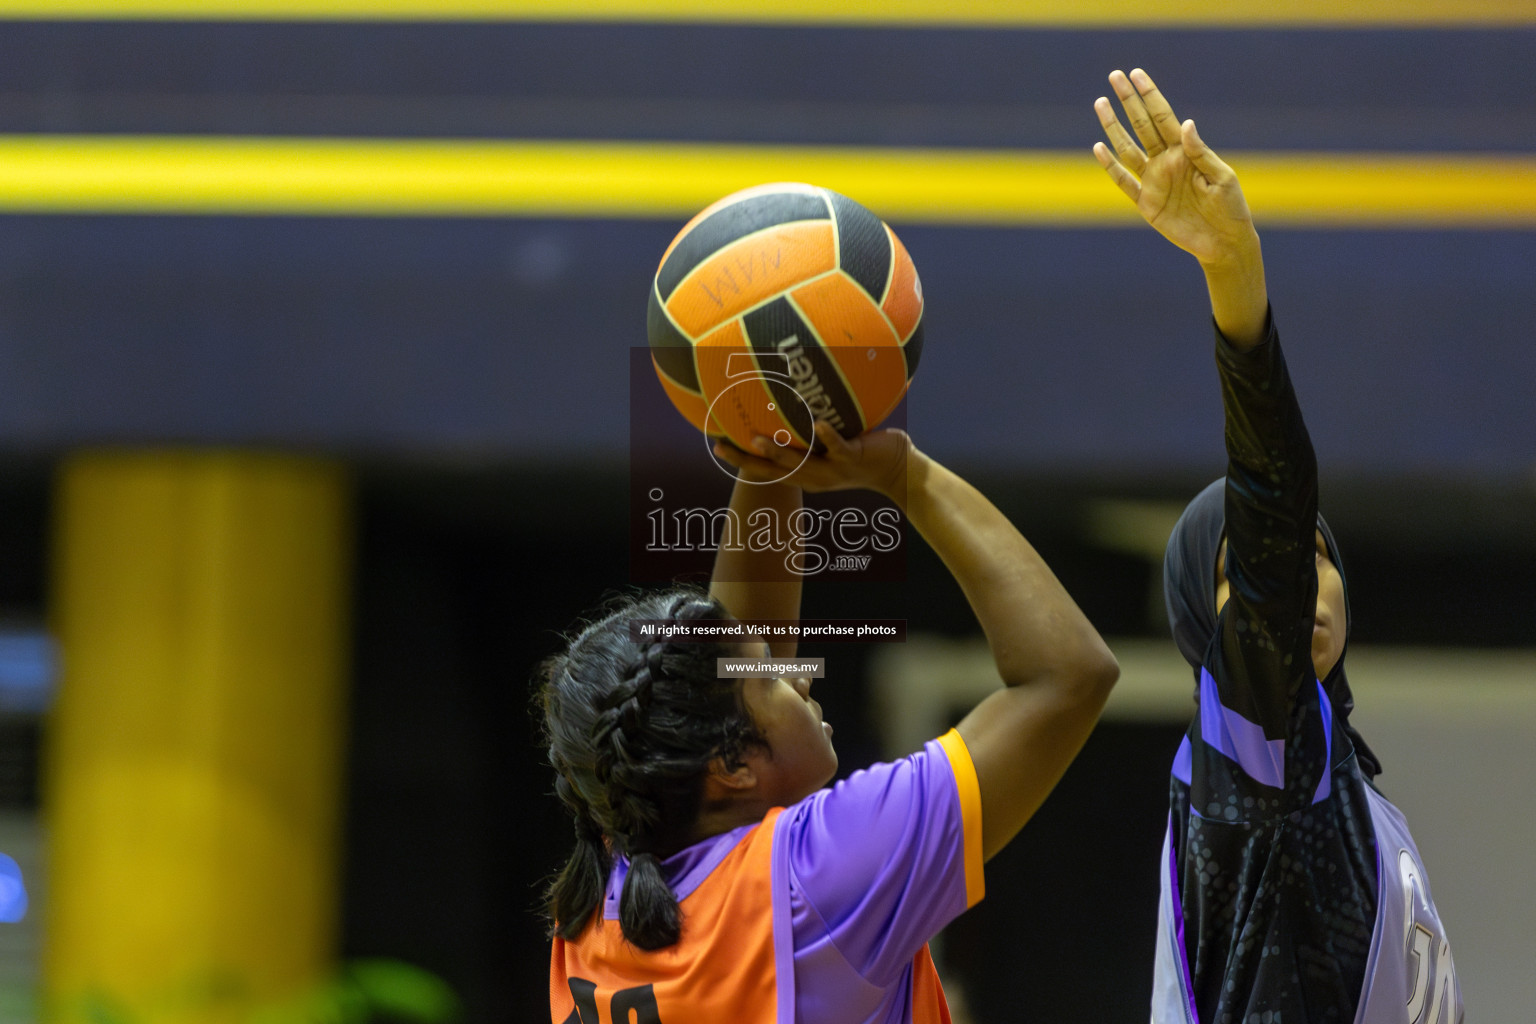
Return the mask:
<path fill-rule="evenodd" d="M 1206 273 L 1227 474 L 1169 539 L 1169 623 L 1197 680 L 1174 758 L 1154 1024 L 1459 1024 L 1445 929 L 1350 725 L 1349 600 L 1318 465 L 1232 167 L 1144 71 L 1109 77 L 1094 154 Z"/>

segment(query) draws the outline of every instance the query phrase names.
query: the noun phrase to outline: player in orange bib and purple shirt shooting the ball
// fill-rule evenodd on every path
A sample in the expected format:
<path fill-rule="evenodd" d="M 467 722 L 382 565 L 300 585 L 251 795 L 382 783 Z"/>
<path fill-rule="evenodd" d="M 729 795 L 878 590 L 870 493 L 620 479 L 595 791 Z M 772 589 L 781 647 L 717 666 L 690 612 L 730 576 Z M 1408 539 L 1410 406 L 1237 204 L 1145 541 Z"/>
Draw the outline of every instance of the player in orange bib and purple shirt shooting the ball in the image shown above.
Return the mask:
<path fill-rule="evenodd" d="M 797 619 L 780 554 L 722 548 L 710 593 L 630 599 L 542 668 L 556 791 L 576 849 L 548 889 L 554 1024 L 948 1022 L 928 940 L 982 898 L 1098 720 L 1118 666 L 1018 531 L 900 430 L 825 454 L 720 445 L 731 505 L 783 520 L 802 491 L 868 488 L 938 553 L 1005 686 L 951 732 L 828 788 L 809 679 L 717 679 L 793 640 L 636 643 L 631 619 Z M 783 482 L 771 484 L 766 481 Z M 762 582 L 739 582 L 762 580 Z"/>

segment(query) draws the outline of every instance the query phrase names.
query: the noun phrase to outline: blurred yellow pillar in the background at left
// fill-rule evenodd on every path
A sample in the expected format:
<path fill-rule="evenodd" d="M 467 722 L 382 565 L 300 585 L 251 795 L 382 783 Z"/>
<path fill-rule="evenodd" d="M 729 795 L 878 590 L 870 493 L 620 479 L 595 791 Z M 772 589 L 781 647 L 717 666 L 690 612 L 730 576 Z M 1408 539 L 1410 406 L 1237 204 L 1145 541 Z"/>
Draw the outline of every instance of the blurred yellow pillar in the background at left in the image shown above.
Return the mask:
<path fill-rule="evenodd" d="M 329 973 L 347 494 L 338 467 L 284 456 L 61 467 L 51 1019 L 244 1019 Z"/>

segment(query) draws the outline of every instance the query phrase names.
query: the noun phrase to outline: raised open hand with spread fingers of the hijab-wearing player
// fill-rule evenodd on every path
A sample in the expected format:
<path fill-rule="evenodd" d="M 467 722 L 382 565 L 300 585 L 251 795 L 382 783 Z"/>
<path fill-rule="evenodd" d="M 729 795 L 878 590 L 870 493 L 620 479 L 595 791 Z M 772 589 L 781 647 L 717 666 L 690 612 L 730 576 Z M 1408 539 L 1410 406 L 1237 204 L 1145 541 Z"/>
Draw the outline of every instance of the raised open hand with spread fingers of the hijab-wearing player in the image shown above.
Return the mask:
<path fill-rule="evenodd" d="M 1109 138 L 1094 155 L 1147 224 L 1204 264 L 1238 256 L 1258 244 L 1238 177 L 1206 146 L 1193 121 L 1174 117 L 1167 98 L 1147 72 L 1115 71 L 1109 84 L 1124 107 L 1135 138 L 1109 100 L 1094 103 Z"/>

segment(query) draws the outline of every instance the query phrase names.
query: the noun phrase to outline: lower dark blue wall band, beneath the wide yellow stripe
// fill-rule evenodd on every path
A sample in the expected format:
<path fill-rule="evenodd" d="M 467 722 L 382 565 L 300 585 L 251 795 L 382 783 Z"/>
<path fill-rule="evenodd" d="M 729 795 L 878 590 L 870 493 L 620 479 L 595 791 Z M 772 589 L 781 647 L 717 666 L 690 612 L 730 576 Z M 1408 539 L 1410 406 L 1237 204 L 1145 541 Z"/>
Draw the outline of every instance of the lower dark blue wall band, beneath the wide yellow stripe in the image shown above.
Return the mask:
<path fill-rule="evenodd" d="M 628 348 L 676 224 L 0 220 L 0 442 L 625 450 Z M 1220 459 L 1198 267 L 1149 230 L 900 229 L 928 345 L 911 428 L 1020 468 Z M 1536 459 L 1536 235 L 1266 235 L 1330 468 Z"/>

